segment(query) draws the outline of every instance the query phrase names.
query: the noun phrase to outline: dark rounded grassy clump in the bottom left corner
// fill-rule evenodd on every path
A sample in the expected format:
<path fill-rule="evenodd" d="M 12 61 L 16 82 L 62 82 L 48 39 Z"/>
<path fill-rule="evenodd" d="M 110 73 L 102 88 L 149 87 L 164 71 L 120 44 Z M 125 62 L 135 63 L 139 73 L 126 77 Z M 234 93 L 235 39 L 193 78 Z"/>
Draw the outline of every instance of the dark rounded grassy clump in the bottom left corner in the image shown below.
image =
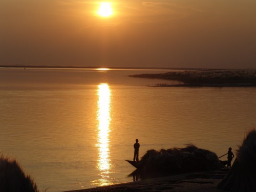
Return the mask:
<path fill-rule="evenodd" d="M 0 191 L 38 192 L 36 184 L 25 175 L 16 160 L 0 157 Z"/>

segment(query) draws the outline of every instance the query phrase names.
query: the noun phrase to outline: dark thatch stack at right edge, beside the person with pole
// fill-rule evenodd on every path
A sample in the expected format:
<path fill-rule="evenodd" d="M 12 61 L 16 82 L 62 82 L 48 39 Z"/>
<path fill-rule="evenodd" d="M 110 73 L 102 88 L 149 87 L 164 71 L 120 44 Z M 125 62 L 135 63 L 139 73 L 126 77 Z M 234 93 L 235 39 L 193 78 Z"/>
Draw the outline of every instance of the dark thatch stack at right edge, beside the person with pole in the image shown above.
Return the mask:
<path fill-rule="evenodd" d="M 237 151 L 227 176 L 219 187 L 232 192 L 256 191 L 256 131 L 250 131 Z"/>

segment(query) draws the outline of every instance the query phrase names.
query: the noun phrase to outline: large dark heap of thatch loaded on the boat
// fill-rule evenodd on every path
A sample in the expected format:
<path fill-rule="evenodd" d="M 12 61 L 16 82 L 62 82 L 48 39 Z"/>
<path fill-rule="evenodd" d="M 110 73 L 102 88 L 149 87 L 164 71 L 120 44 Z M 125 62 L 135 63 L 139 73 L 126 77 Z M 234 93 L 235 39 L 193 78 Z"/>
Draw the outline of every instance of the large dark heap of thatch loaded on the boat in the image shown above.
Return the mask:
<path fill-rule="evenodd" d="M 215 153 L 192 144 L 184 148 L 149 150 L 139 164 L 139 170 L 143 175 L 201 172 L 220 169 L 223 166 Z"/>

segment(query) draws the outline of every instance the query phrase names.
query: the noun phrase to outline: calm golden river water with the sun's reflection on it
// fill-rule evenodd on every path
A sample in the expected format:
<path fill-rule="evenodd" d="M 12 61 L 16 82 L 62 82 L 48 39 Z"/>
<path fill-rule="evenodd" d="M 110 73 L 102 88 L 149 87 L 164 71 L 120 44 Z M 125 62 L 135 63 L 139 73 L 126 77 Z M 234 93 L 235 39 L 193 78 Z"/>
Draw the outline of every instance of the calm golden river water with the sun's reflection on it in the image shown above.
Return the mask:
<path fill-rule="evenodd" d="M 149 149 L 193 143 L 218 156 L 237 149 L 256 123 L 255 88 L 156 88 L 127 77 L 154 70 L 0 68 L 0 152 L 41 191 L 133 181 Z M 225 159 L 225 157 L 224 157 Z"/>

